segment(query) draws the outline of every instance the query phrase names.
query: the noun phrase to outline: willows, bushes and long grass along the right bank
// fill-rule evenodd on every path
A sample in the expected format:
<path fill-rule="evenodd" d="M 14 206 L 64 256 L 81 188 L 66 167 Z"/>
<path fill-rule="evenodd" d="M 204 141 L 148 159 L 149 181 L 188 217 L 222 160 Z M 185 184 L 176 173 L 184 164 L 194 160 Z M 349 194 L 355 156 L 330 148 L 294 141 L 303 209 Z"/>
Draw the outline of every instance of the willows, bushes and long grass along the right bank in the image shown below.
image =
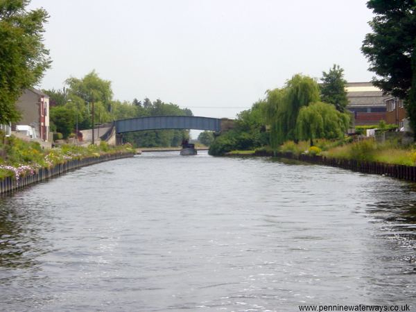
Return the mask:
<path fill-rule="evenodd" d="M 342 69 L 334 66 L 328 75 L 342 79 Z M 322 79 L 323 80 L 323 79 Z M 342 85 L 342 84 L 340 84 Z M 345 89 L 345 86 L 342 87 Z M 295 75 L 281 89 L 269 90 L 266 98 L 241 112 L 236 128 L 216 137 L 210 155 L 277 155 L 292 153 L 321 155 L 332 159 L 415 166 L 416 146 L 401 144 L 399 139 L 377 143 L 360 135 L 376 128 L 377 132 L 396 131 L 397 125 L 359 126 L 356 135 L 345 135 L 350 114 L 345 106 L 331 101 L 322 85 L 308 76 Z M 339 101 L 339 96 L 338 96 Z M 345 103 L 345 101 L 342 101 Z"/>

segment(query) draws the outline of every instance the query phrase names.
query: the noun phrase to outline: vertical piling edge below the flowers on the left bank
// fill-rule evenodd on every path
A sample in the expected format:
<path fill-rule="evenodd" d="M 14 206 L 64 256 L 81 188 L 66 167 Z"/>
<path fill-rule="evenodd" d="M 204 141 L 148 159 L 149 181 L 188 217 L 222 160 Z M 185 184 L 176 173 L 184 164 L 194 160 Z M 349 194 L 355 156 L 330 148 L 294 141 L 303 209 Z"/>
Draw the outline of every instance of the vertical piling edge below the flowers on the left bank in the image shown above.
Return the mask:
<path fill-rule="evenodd" d="M 15 177 L 5 177 L 0 180 L 0 194 L 10 193 L 28 187 L 29 185 L 47 180 L 51 177 L 62 175 L 68 171 L 75 170 L 83 166 L 98 164 L 99 162 L 107 162 L 109 160 L 133 157 L 134 153 L 114 153 L 107 155 L 100 155 L 99 157 L 87 157 L 83 159 L 72 159 L 63 164 L 57 164 L 51 168 L 37 169 L 34 175 L 25 175 L 20 177 L 19 181 Z"/>

